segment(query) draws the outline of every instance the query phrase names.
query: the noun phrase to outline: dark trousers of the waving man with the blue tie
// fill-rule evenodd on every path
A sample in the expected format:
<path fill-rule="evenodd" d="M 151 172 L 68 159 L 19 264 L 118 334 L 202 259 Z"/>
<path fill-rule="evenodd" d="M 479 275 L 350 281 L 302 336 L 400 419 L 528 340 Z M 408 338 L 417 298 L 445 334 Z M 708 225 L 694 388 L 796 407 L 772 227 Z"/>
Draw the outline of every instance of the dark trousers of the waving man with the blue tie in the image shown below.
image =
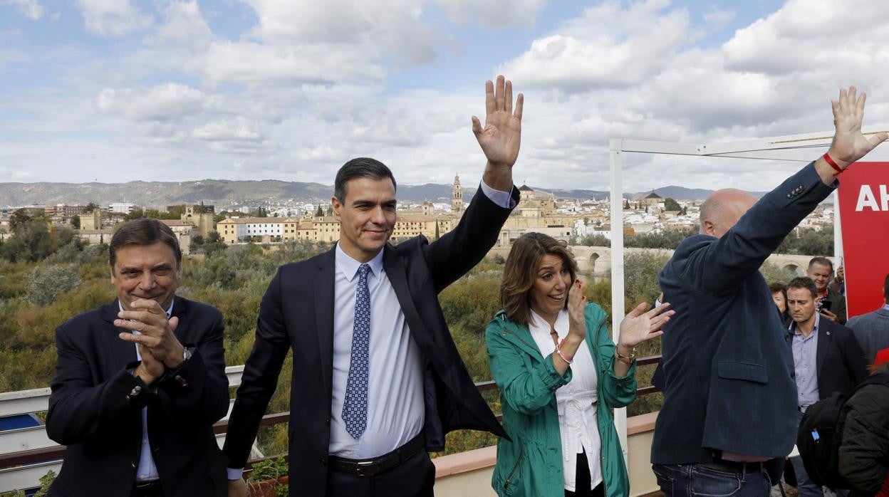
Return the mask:
<path fill-rule="evenodd" d="M 432 497 L 435 483 L 436 466 L 429 454 L 420 450 L 395 468 L 372 477 L 328 471 L 327 497 Z"/>

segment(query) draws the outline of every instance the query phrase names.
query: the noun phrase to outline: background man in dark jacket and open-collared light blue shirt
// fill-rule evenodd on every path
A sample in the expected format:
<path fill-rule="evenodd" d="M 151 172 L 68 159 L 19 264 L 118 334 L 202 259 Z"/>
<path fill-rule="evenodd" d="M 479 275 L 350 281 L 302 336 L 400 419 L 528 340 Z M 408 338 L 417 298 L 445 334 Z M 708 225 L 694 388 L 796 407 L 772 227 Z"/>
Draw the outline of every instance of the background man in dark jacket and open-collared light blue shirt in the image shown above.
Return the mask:
<path fill-rule="evenodd" d="M 868 376 L 868 365 L 853 331 L 816 312 L 818 288 L 811 278 L 790 280 L 787 305 L 793 319 L 789 341 L 797 381 L 797 419 L 802 419 L 810 405 L 834 392 L 852 395 L 855 385 Z M 821 485 L 809 479 L 802 458 L 791 457 L 790 462 L 797 473 L 799 493 L 821 497 Z"/>

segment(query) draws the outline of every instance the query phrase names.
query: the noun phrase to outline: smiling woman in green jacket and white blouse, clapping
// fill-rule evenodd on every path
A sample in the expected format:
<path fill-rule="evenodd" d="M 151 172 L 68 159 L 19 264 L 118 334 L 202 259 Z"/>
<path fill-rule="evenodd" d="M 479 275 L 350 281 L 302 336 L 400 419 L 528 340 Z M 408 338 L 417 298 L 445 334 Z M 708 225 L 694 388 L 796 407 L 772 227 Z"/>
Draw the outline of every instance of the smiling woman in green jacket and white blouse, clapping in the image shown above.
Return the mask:
<path fill-rule="evenodd" d="M 485 332 L 512 438 L 497 445 L 492 485 L 501 496 L 629 494 L 611 409 L 636 398 L 635 347 L 660 336 L 673 311 L 640 304 L 615 347 L 605 312 L 586 301 L 576 275 L 573 257 L 550 236 L 525 234 L 509 252 L 504 309 Z"/>

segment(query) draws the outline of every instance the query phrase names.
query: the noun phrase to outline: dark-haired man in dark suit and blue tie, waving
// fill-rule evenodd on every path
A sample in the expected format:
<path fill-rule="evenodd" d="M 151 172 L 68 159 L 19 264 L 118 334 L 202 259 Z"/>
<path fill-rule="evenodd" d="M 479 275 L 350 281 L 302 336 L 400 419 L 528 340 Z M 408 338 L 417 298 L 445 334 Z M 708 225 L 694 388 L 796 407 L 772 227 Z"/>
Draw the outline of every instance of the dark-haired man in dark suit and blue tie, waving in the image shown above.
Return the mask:
<path fill-rule="evenodd" d="M 512 107 L 503 76 L 485 84 L 486 122 L 473 132 L 487 164 L 453 231 L 428 243 L 388 244 L 396 182 L 384 164 L 357 158 L 337 172 L 332 198 L 340 241 L 327 253 L 278 269 L 260 305 L 225 453 L 232 494 L 276 388 L 288 346 L 291 494 L 431 495 L 440 451 L 453 429 L 505 436 L 454 346 L 437 294 L 497 241 L 518 200 L 523 97 Z M 424 450 L 425 448 L 425 450 Z"/>

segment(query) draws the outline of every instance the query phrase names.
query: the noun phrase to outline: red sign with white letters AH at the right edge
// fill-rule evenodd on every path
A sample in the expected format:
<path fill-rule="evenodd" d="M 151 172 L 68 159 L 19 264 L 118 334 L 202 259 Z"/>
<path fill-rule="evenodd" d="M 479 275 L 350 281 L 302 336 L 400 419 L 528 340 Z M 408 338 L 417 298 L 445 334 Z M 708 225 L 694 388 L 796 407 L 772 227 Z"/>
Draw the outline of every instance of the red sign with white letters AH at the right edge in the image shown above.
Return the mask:
<path fill-rule="evenodd" d="M 849 317 L 881 307 L 889 273 L 889 162 L 859 162 L 839 178 Z"/>

